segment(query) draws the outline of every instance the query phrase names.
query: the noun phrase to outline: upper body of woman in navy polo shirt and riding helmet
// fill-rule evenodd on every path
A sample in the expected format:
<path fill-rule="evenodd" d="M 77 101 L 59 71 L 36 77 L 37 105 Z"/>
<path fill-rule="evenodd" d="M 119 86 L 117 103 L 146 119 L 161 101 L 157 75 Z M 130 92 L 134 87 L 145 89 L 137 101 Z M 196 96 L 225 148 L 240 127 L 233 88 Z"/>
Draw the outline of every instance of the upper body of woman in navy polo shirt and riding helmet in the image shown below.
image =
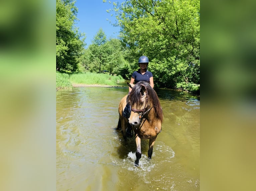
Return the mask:
<path fill-rule="evenodd" d="M 141 56 L 139 58 L 139 67 L 140 69 L 138 71 L 135 71 L 132 73 L 132 78 L 130 84 L 137 84 L 140 81 L 146 81 L 150 83 L 150 86 L 154 88 L 154 81 L 153 81 L 153 74 L 147 70 L 148 67 L 148 57 L 146 56 Z M 129 87 L 129 93 L 130 95 L 132 89 Z"/>

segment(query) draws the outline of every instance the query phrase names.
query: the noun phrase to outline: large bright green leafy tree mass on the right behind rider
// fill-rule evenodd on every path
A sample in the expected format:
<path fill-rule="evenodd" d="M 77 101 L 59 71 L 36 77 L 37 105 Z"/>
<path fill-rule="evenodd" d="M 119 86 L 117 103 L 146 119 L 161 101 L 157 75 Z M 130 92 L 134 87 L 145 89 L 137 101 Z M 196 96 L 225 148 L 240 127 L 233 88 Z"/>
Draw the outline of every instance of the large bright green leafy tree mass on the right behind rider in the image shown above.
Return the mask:
<path fill-rule="evenodd" d="M 200 83 L 200 1 L 125 0 L 113 3 L 121 40 L 136 66 L 148 56 L 156 86 Z"/>

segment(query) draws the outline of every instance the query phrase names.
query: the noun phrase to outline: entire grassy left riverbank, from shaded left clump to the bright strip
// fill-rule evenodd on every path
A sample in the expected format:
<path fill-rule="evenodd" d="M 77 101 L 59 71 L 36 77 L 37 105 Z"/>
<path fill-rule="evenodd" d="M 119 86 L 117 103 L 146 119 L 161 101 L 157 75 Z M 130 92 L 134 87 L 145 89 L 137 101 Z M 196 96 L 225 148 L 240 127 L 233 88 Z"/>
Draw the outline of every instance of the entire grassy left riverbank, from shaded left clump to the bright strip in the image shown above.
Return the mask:
<path fill-rule="evenodd" d="M 76 73 L 76 74 L 61 74 L 56 72 L 56 89 L 72 88 L 72 84 L 87 84 L 87 85 L 109 85 L 116 86 L 118 82 L 124 81 L 121 76 L 110 76 L 109 74 L 96 73 Z"/>

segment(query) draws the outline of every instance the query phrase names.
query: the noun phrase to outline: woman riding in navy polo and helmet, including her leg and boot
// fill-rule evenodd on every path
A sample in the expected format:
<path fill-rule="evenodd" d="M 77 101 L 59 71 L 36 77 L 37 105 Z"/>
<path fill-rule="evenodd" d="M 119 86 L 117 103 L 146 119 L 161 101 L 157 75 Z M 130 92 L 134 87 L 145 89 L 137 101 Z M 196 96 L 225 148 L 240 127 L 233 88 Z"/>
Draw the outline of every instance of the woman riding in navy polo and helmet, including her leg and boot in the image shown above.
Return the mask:
<path fill-rule="evenodd" d="M 140 69 L 138 71 L 135 71 L 132 73 L 132 78 L 131 78 L 130 84 L 133 84 L 134 82 L 136 84 L 140 81 L 146 81 L 146 82 L 150 83 L 150 86 L 152 88 L 154 88 L 153 74 L 147 70 L 148 63 L 149 63 L 148 57 L 141 56 L 139 58 L 138 63 L 139 63 Z M 128 96 L 130 95 L 131 91 L 132 91 L 132 89 L 129 87 Z M 127 104 L 126 107 L 124 108 L 123 115 L 124 115 L 124 117 L 129 118 L 130 114 L 131 114 L 131 106 Z M 132 128 L 129 123 L 128 123 L 128 127 L 126 130 L 126 134 L 128 137 L 132 136 Z"/>

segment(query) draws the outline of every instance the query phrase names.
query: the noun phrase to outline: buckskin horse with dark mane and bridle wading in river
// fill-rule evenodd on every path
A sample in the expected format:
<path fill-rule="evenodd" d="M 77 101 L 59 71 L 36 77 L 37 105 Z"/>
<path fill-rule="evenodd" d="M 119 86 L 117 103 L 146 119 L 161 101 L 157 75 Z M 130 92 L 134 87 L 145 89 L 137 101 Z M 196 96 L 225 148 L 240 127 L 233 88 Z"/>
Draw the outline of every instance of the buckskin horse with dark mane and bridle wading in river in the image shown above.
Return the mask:
<path fill-rule="evenodd" d="M 141 158 L 141 139 L 149 139 L 148 158 L 151 159 L 153 146 L 157 135 L 162 130 L 163 111 L 159 98 L 155 90 L 144 81 L 133 85 L 127 83 L 132 88 L 131 94 L 124 96 L 119 102 L 119 121 L 117 129 L 122 129 L 123 137 L 126 140 L 126 127 L 131 125 L 136 141 L 136 161 L 135 166 L 139 166 Z M 130 116 L 124 117 L 124 108 L 130 106 Z"/>

